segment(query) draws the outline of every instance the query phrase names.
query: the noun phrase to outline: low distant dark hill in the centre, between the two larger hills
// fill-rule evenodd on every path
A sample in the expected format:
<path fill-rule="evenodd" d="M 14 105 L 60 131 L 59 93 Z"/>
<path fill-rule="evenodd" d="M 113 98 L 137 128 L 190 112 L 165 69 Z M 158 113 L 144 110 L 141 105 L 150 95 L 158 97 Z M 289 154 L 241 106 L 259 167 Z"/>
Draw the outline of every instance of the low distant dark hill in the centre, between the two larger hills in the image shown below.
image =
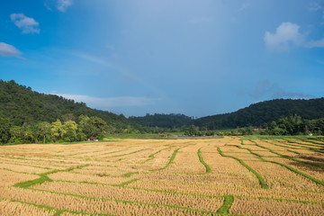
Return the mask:
<path fill-rule="evenodd" d="M 130 121 L 146 127 L 180 128 L 189 124 L 192 118 L 184 114 L 147 114 L 142 117 L 130 116 Z"/>

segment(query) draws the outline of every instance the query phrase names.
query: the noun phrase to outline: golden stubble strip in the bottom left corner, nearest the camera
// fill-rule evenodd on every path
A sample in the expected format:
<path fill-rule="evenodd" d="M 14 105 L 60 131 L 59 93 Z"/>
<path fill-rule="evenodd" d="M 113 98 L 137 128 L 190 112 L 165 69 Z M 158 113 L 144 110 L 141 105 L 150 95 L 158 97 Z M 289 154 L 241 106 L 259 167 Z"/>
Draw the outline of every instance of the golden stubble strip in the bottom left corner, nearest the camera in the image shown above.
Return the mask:
<path fill-rule="evenodd" d="M 164 206 L 138 204 L 130 202 L 115 202 L 101 199 L 85 199 L 70 195 L 38 192 L 18 188 L 0 188 L 0 198 L 13 199 L 21 202 L 31 202 L 47 205 L 58 210 L 79 211 L 94 214 L 113 215 L 196 215 L 188 211 Z M 199 214 L 199 213 L 198 213 Z"/>

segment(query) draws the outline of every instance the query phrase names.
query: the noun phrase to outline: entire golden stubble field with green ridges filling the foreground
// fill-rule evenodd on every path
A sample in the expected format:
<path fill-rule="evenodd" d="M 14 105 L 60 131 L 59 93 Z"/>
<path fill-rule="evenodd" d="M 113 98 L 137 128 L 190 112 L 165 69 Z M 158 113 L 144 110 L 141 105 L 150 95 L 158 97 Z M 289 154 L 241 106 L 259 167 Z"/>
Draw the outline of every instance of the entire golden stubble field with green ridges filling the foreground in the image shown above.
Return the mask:
<path fill-rule="evenodd" d="M 121 139 L 0 147 L 0 215 L 323 215 L 324 143 Z"/>

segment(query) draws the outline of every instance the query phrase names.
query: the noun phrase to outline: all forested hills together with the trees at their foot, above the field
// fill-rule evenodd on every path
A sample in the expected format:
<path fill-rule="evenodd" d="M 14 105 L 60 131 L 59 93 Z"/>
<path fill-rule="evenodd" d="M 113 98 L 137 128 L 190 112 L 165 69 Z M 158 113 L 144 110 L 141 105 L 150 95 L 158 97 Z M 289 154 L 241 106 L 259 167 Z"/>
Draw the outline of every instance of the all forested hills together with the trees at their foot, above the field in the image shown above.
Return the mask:
<path fill-rule="evenodd" d="M 0 80 L 0 142 L 74 142 L 109 134 L 324 135 L 324 98 L 276 99 L 237 112 L 193 119 L 184 114 L 114 114 Z"/>

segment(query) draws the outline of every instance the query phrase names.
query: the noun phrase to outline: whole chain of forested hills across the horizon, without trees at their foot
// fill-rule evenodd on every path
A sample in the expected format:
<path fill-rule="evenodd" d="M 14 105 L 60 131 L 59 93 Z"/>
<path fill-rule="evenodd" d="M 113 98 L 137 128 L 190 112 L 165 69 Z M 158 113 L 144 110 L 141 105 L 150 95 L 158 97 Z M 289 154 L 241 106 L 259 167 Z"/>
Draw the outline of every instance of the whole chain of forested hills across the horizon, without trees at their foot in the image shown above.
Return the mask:
<path fill-rule="evenodd" d="M 300 115 L 302 119 L 315 120 L 324 118 L 324 98 L 311 100 L 276 99 L 251 104 L 237 112 L 217 114 L 193 120 L 184 114 L 147 114 L 143 117 L 131 116 L 129 119 L 122 114 L 95 110 L 85 103 L 76 103 L 58 95 L 40 94 L 31 87 L 18 85 L 12 81 L 0 80 L 0 117 L 9 119 L 14 125 L 22 126 L 24 122 L 53 122 L 57 119 L 75 118 L 80 115 L 97 116 L 115 129 L 125 129 L 131 125 L 133 129 L 142 126 L 159 128 L 180 128 L 194 124 L 208 130 L 229 129 L 247 126 L 264 126 L 271 121 Z"/>

